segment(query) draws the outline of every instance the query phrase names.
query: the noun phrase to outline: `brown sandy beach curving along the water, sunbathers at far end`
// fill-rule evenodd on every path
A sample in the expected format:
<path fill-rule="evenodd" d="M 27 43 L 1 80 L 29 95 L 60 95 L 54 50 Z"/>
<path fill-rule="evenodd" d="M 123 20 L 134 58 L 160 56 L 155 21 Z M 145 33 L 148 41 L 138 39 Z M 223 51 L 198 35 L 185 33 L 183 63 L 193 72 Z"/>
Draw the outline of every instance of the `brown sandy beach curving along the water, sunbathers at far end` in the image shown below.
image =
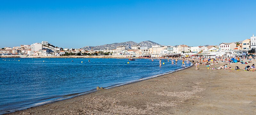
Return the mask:
<path fill-rule="evenodd" d="M 227 66 L 235 69 L 236 65 L 242 69 L 252 63 Z M 256 114 L 256 72 L 199 68 L 193 66 L 8 115 Z"/>

